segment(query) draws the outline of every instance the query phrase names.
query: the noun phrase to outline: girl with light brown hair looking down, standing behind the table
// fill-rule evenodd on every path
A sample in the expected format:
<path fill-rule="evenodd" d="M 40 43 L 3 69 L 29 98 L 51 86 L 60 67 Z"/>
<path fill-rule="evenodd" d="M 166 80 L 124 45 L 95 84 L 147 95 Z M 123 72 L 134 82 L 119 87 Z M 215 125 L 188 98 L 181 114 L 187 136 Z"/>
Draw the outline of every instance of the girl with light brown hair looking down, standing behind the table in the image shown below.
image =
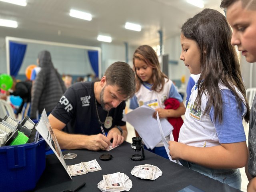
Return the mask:
<path fill-rule="evenodd" d="M 158 57 L 152 47 L 148 45 L 139 46 L 134 52 L 133 66 L 136 72 L 136 92 L 130 100 L 131 109 L 147 104 L 158 112 L 159 118 L 178 118 L 185 113 L 186 109 L 182 103 L 182 97 L 172 81 L 161 72 Z M 164 109 L 164 102 L 168 98 L 178 102 L 178 108 Z M 156 112 L 153 115 L 154 118 Z M 154 149 L 148 150 L 169 159 L 162 142 L 157 144 Z"/>

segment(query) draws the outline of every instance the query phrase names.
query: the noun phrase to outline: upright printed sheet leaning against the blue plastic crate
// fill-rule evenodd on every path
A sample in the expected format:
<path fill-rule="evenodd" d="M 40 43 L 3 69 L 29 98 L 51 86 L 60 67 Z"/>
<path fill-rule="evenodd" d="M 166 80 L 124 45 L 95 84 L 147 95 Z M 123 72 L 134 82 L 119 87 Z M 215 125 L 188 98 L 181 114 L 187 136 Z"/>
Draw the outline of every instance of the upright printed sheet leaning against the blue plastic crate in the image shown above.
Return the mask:
<path fill-rule="evenodd" d="M 40 117 L 40 120 L 35 126 L 36 130 L 40 133 L 40 135 L 44 138 L 46 143 L 50 146 L 54 154 L 57 156 L 57 158 L 60 160 L 62 166 L 65 168 L 66 172 L 71 178 L 70 172 L 68 170 L 68 167 L 63 159 L 63 155 L 59 146 L 59 143 L 56 139 L 56 136 L 54 135 L 54 132 L 52 130 L 52 126 L 50 125 L 48 116 L 43 110 L 42 115 Z M 54 144 L 54 146 L 53 146 Z M 72 179 L 72 178 L 71 178 Z"/>

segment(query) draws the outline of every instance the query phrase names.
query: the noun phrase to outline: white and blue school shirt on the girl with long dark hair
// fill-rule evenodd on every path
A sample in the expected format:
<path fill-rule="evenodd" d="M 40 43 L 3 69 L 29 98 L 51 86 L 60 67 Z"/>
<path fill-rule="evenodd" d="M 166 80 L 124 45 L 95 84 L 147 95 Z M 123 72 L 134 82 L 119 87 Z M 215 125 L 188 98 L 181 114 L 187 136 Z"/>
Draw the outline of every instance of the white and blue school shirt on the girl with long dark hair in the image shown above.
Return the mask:
<path fill-rule="evenodd" d="M 238 96 L 242 99 L 242 110 L 239 110 L 234 93 L 223 84 L 219 84 L 222 95 L 222 116 L 223 121 L 219 123 L 218 118 L 214 121 L 214 108 L 209 114 L 204 114 L 207 94 L 202 95 L 202 103 L 199 110 L 196 110 L 196 96 L 198 95 L 197 84 L 190 95 L 186 108 L 184 124 L 180 128 L 179 142 L 196 147 L 218 146 L 220 143 L 236 143 L 246 141 L 242 119 L 247 109 L 244 97 L 236 88 Z"/>

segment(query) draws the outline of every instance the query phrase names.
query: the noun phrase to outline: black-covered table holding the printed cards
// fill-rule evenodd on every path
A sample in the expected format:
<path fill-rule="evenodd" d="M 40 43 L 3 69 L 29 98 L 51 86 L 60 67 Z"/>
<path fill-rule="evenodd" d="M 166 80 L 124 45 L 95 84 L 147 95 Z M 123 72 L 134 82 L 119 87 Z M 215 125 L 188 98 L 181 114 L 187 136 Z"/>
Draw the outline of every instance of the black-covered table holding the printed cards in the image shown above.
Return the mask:
<path fill-rule="evenodd" d="M 65 160 L 67 165 L 74 165 L 81 162 L 87 162 L 96 159 L 102 170 L 89 172 L 80 176 L 73 176 L 71 180 L 62 164 L 55 154 L 46 156 L 46 169 L 38 181 L 35 191 L 61 192 L 62 190 L 74 190 L 83 182 L 86 186 L 78 192 L 100 192 L 97 188 L 98 182 L 103 178 L 102 175 L 121 172 L 126 174 L 132 180 L 130 192 L 177 192 L 186 186 L 193 185 L 205 192 L 237 192 L 226 184 L 204 176 L 198 172 L 180 166 L 165 158 L 145 150 L 146 160 L 132 161 L 130 156 L 133 154 L 142 154 L 134 152 L 131 144 L 124 142 L 122 145 L 110 151 L 89 151 L 89 150 L 66 150 L 76 153 L 77 157 L 71 160 Z M 112 154 L 113 158 L 109 161 L 99 159 L 101 154 Z M 152 164 L 162 170 L 163 174 L 156 180 L 144 180 L 133 176 L 130 172 L 137 165 Z"/>

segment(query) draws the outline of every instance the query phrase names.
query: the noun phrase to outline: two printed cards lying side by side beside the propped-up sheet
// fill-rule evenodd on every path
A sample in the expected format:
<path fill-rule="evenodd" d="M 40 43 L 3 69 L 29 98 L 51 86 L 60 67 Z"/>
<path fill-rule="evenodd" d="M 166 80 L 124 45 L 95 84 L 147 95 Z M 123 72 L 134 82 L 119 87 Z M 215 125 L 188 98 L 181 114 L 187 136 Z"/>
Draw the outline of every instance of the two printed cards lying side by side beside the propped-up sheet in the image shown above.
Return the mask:
<path fill-rule="evenodd" d="M 82 175 L 88 172 L 101 170 L 101 167 L 96 159 L 88 162 L 78 163 L 75 165 L 68 165 L 67 167 L 71 176 Z"/>

